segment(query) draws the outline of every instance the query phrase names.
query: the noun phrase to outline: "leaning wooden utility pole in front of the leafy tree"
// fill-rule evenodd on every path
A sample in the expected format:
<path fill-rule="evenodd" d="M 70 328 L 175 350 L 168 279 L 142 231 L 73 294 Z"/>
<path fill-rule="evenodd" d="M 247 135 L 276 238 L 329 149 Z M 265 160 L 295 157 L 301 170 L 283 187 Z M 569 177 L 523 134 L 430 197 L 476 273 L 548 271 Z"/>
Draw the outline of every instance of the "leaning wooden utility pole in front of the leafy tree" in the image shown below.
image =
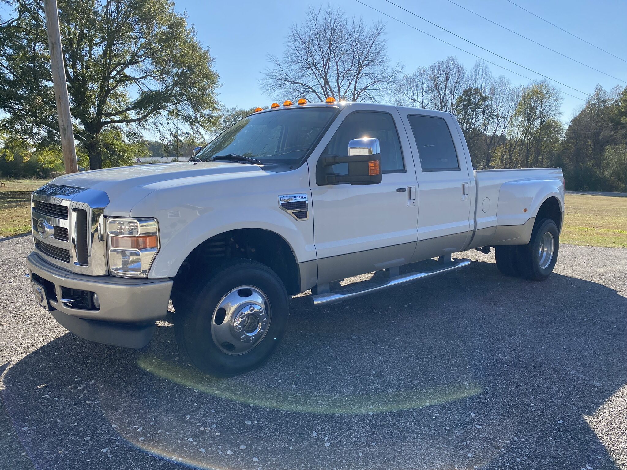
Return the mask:
<path fill-rule="evenodd" d="M 46 12 L 46 26 L 48 29 L 48 46 L 50 46 L 50 70 L 52 83 L 55 87 L 56 113 L 59 116 L 59 133 L 61 134 L 61 150 L 66 173 L 78 172 L 76 162 L 76 147 L 74 145 L 74 130 L 70 112 L 70 98 L 68 84 L 65 81 L 65 65 L 63 65 L 63 50 L 61 49 L 61 31 L 59 29 L 59 10 L 56 0 L 44 0 Z"/>

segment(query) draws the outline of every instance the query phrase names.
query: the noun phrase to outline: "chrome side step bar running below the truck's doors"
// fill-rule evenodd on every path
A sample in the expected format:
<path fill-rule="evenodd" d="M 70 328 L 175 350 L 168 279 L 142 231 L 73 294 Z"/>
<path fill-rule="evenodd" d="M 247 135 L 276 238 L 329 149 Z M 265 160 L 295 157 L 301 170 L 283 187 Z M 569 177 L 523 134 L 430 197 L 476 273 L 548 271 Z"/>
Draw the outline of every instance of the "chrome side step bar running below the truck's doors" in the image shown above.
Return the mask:
<path fill-rule="evenodd" d="M 436 274 L 448 273 L 449 271 L 455 271 L 456 269 L 463 268 L 470 264 L 470 259 L 453 259 L 450 263 L 445 263 L 441 268 L 433 271 L 425 271 L 423 273 L 407 273 L 392 278 L 387 278 L 383 281 L 361 281 L 354 285 L 343 286 L 339 290 L 324 292 L 320 294 L 310 295 L 309 298 L 313 305 L 325 305 L 330 303 L 338 303 L 342 300 L 347 300 L 362 295 L 369 294 L 384 290 L 394 286 L 400 286 L 404 284 L 417 281 L 418 279 L 428 278 L 429 276 L 435 276 Z M 361 285 L 361 286 L 360 286 Z"/>

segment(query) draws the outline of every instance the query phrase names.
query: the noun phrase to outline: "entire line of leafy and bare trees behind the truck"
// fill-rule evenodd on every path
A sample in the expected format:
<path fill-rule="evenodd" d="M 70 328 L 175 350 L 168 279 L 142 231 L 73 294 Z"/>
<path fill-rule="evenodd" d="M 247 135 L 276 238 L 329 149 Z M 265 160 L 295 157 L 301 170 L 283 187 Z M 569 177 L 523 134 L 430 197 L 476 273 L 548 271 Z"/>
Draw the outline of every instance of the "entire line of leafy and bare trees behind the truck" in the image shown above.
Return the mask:
<path fill-rule="evenodd" d="M 61 169 L 41 0 L 0 1 L 0 174 Z M 217 97 L 209 50 L 168 0 L 59 0 L 79 165 L 184 158 L 251 109 Z M 450 112 L 478 169 L 560 166 L 569 189 L 627 191 L 627 87 L 597 86 L 562 123 L 547 80 L 514 85 L 454 56 L 406 72 L 387 54 L 386 25 L 310 7 L 269 55 L 260 86 L 277 100 L 370 101 Z M 145 135 L 157 135 L 147 140 Z"/>

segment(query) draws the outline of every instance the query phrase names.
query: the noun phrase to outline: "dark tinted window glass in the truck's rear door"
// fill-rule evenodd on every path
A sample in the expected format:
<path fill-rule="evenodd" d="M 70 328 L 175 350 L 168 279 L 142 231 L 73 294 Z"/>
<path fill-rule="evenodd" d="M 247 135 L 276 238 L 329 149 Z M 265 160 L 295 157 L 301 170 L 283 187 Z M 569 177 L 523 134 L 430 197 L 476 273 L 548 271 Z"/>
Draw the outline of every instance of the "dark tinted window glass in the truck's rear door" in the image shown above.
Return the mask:
<path fill-rule="evenodd" d="M 453 137 L 442 118 L 409 115 L 411 132 L 416 139 L 423 171 L 459 170 Z"/>

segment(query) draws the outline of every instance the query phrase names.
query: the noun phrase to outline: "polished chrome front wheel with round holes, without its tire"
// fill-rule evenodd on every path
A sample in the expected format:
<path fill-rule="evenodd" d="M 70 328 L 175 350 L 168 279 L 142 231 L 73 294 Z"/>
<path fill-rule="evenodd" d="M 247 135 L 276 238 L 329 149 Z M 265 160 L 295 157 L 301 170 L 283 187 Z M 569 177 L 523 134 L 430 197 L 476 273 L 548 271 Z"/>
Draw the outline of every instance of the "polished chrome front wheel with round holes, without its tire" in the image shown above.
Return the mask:
<path fill-rule="evenodd" d="M 268 298 L 253 286 L 227 293 L 213 311 L 211 336 L 224 353 L 240 355 L 258 345 L 270 326 Z"/>

